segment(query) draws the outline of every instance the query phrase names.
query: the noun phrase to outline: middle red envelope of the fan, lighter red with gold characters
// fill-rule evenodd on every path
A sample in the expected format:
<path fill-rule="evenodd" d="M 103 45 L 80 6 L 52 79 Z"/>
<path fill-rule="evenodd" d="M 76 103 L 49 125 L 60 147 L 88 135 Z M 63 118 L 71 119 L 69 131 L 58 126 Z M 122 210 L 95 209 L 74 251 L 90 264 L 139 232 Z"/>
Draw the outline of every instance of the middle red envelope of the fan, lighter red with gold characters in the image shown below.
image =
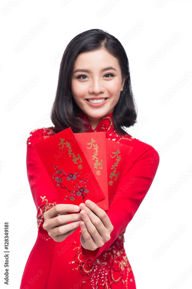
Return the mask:
<path fill-rule="evenodd" d="M 106 133 L 86 132 L 74 134 L 77 139 L 92 172 L 87 174 L 87 178 L 94 175 L 104 193 L 105 199 L 97 202 L 103 210 L 108 208 L 108 184 L 107 184 L 107 153 L 106 153 Z"/>

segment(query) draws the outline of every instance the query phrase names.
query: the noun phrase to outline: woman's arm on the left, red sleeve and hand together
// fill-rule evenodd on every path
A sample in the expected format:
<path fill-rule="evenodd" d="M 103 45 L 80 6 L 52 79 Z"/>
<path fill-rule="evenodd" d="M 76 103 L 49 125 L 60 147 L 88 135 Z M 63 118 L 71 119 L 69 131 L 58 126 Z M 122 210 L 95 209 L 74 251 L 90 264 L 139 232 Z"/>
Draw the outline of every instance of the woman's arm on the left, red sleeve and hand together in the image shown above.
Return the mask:
<path fill-rule="evenodd" d="M 27 140 L 27 176 L 33 200 L 37 208 L 38 233 L 44 240 L 53 238 L 62 242 L 71 235 L 82 221 L 79 206 L 62 204 L 54 185 L 43 166 L 33 144 L 49 137 L 49 128 L 31 131 Z M 75 210 L 76 208 L 76 210 Z M 67 212 L 75 214 L 67 214 Z M 45 215 L 45 218 L 44 218 Z M 67 224 L 71 222 L 70 224 Z"/>

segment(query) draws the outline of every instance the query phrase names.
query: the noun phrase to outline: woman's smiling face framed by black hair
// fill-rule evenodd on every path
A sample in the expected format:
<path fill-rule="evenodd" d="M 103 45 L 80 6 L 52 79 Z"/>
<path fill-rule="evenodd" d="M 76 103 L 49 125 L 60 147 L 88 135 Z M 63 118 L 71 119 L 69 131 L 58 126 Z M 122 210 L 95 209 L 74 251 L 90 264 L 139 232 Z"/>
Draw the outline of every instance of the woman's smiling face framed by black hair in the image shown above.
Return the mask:
<path fill-rule="evenodd" d="M 106 49 L 83 52 L 74 62 L 72 94 L 89 119 L 101 119 L 113 112 L 124 82 L 118 59 Z"/>

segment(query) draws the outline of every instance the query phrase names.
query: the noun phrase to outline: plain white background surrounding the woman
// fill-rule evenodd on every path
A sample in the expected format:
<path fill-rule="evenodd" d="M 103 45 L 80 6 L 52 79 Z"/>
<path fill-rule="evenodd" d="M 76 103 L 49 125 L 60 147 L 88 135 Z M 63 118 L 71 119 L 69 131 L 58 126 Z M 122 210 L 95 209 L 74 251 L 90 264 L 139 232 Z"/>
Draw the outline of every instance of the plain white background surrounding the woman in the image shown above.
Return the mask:
<path fill-rule="evenodd" d="M 16 4 L 11 0 L 0 3 L 1 284 L 5 272 L 4 222 L 9 222 L 11 289 L 19 288 L 37 238 L 37 211 L 26 174 L 26 138 L 35 128 L 52 126 L 50 110 L 63 54 L 60 52 L 77 34 L 97 28 L 118 38 L 128 55 L 138 105 L 138 123 L 128 131 L 151 144 L 160 155 L 153 184 L 125 234 L 136 287 L 191 288 L 191 1 L 116 0 L 111 8 L 108 4 L 112 0 L 13 2 Z M 33 33 L 43 20 L 47 21 L 45 26 Z M 16 51 L 29 34 L 33 38 Z M 162 55 L 161 49 L 165 52 Z M 58 60 L 53 63 L 56 56 Z M 33 78 L 38 79 L 37 83 L 24 93 L 22 88 Z M 168 95 L 169 90 L 174 93 Z M 21 92 L 23 96 L 11 107 Z M 162 103 L 165 95 L 167 100 Z M 170 190 L 165 200 L 163 196 Z M 179 232 L 180 226 L 183 230 Z M 164 249 L 168 241 L 170 245 Z M 3 288 L 7 287 L 3 284 Z"/>

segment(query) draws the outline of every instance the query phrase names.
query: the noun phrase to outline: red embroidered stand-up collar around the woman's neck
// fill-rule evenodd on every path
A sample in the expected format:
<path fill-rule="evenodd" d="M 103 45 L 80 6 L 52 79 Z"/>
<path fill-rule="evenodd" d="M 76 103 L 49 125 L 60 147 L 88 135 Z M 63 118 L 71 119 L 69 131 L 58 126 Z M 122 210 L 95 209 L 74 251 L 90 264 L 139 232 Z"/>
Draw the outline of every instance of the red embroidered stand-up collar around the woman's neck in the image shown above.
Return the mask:
<path fill-rule="evenodd" d="M 93 130 L 88 117 L 86 116 L 86 114 L 83 111 L 80 111 L 78 113 L 78 117 L 82 118 L 83 120 L 85 120 L 87 122 L 87 124 L 83 124 L 83 126 L 88 128 L 89 132 L 99 132 L 99 131 L 109 131 L 109 129 L 111 127 L 114 127 L 113 124 L 113 112 L 107 114 L 106 116 L 104 116 L 100 122 L 98 123 L 97 127 Z"/>

